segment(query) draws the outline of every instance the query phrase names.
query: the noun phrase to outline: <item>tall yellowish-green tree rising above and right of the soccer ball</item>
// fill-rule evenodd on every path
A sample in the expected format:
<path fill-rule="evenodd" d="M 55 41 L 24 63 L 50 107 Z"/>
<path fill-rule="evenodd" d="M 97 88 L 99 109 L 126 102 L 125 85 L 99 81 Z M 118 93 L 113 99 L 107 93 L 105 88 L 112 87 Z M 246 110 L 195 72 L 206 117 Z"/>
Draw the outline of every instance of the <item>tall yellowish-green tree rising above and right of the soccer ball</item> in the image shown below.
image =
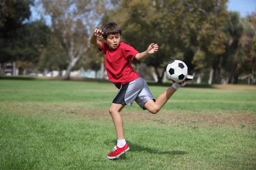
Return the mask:
<path fill-rule="evenodd" d="M 215 74 L 215 82 L 220 82 L 221 68 L 218 66 L 221 58 L 219 55 L 224 53 L 224 42 L 227 40 L 222 26 L 229 17 L 226 3 L 227 0 L 186 1 L 183 3 L 183 6 L 186 7 L 183 25 L 187 27 L 185 32 L 189 43 L 187 50 L 194 53 L 192 64 L 196 71 L 201 72 L 206 68 L 211 68 L 210 84 L 212 74 Z M 189 53 L 191 54 L 191 52 Z"/>

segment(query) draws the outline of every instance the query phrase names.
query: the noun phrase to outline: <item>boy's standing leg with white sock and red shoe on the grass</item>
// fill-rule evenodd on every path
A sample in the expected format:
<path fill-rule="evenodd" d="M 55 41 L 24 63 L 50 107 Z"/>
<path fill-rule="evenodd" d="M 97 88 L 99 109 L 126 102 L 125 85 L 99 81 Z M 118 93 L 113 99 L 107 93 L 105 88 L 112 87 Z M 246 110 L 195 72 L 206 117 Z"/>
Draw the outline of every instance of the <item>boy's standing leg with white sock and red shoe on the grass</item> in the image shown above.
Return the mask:
<path fill-rule="evenodd" d="M 108 159 L 118 158 L 120 155 L 129 150 L 128 144 L 125 142 L 123 121 L 120 111 L 125 107 L 125 105 L 112 103 L 109 108 L 109 113 L 112 116 L 117 135 L 117 145 L 114 147 L 113 151 L 108 154 Z"/>

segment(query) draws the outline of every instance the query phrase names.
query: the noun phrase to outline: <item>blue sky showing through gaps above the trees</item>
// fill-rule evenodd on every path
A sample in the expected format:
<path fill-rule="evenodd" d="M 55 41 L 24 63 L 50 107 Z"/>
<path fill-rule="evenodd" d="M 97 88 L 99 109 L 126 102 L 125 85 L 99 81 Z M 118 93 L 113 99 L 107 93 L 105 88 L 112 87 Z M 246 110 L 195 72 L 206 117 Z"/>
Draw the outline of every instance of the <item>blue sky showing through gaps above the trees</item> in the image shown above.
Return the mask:
<path fill-rule="evenodd" d="M 245 17 L 248 13 L 252 11 L 256 11 L 256 0 L 229 0 L 227 3 L 227 9 L 229 11 L 239 11 L 241 17 Z M 40 19 L 40 15 L 37 12 L 37 8 L 31 7 L 32 16 L 31 20 L 38 20 Z M 50 17 L 45 17 L 47 25 L 51 25 Z"/>

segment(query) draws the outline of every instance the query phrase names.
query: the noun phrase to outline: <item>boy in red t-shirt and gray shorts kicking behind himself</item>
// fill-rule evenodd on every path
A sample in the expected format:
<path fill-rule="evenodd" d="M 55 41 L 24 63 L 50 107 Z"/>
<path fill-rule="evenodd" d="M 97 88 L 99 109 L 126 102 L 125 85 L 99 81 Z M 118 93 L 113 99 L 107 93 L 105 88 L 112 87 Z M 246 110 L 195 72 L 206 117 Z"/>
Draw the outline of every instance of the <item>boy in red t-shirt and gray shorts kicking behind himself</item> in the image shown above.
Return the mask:
<path fill-rule="evenodd" d="M 121 33 L 122 29 L 116 23 L 106 23 L 102 30 L 96 28 L 90 38 L 90 42 L 98 47 L 101 53 L 106 54 L 105 68 L 109 80 L 119 89 L 109 108 L 116 128 L 117 145 L 113 152 L 108 154 L 108 159 L 115 159 L 129 150 L 129 146 L 125 142 L 123 121 L 120 115 L 125 105 L 132 105 L 135 101 L 143 110 L 155 114 L 181 85 L 183 86 L 186 81 L 193 79 L 188 75 L 183 82 L 174 82 L 163 94 L 154 99 L 145 80 L 132 68 L 131 61 L 134 59 L 141 61 L 156 53 L 158 45 L 151 43 L 146 51 L 139 53 L 130 45 L 120 41 Z M 102 38 L 105 42 L 98 41 L 97 37 Z"/>

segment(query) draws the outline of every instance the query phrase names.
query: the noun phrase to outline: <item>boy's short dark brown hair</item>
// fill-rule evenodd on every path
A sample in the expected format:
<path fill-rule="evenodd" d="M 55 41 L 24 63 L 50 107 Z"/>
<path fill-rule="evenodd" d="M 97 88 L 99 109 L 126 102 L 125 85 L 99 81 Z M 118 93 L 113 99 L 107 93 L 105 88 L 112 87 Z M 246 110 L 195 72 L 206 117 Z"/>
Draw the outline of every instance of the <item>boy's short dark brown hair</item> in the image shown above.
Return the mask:
<path fill-rule="evenodd" d="M 107 39 L 110 34 L 120 34 L 122 33 L 121 27 L 117 23 L 105 23 L 102 27 L 102 32 L 104 33 L 103 38 Z"/>

